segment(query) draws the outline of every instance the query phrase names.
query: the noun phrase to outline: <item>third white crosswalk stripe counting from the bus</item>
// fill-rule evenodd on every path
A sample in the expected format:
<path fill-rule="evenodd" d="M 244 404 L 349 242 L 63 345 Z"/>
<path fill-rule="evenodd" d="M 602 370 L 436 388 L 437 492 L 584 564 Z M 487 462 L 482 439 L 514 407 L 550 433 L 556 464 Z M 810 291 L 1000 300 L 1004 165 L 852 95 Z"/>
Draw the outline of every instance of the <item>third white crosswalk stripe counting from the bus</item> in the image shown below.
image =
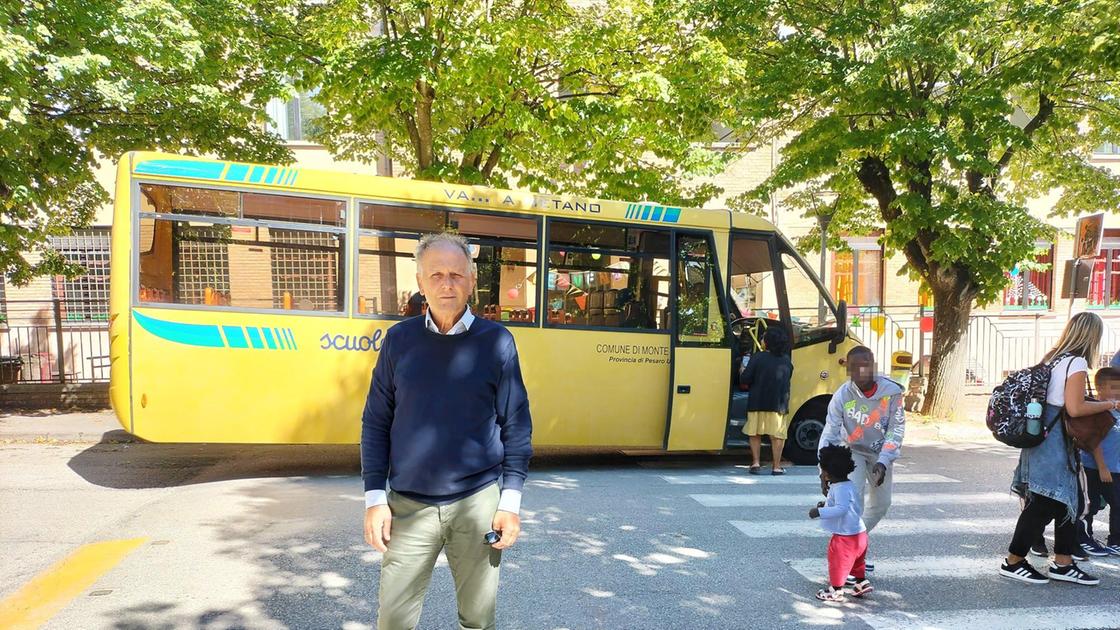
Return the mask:
<path fill-rule="evenodd" d="M 808 512 L 808 509 L 805 510 Z M 937 534 L 1006 534 L 1015 529 L 1014 518 L 949 518 L 923 520 L 892 520 L 888 516 L 875 528 L 875 536 L 915 536 Z M 831 536 L 818 521 L 801 520 L 732 520 L 731 525 L 749 538 L 790 538 L 800 536 Z"/>

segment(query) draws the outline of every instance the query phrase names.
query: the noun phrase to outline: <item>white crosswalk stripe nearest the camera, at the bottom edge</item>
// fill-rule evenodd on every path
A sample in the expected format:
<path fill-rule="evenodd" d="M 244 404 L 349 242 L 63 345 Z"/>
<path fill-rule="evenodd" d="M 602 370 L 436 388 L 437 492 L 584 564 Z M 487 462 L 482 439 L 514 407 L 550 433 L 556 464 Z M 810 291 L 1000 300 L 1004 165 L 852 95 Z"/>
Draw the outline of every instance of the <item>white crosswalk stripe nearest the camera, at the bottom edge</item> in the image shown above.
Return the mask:
<path fill-rule="evenodd" d="M 894 611 L 861 614 L 875 630 L 1073 630 L 1076 628 L 1116 628 L 1120 605 L 1046 606 L 958 611 Z"/>

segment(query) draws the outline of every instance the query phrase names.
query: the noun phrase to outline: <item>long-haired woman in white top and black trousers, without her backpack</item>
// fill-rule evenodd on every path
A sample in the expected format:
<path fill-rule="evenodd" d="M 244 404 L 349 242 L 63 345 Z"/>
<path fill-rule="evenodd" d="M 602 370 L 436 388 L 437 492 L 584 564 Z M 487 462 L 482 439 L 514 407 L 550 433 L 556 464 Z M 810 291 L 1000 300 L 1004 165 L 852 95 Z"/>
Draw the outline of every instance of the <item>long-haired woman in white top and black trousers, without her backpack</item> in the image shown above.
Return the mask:
<path fill-rule="evenodd" d="M 1077 518 L 1082 509 L 1082 469 L 1080 457 L 1065 435 L 1061 411 L 1072 417 L 1089 416 L 1120 408 L 1118 401 L 1093 401 L 1085 398 L 1089 363 L 1095 361 L 1104 335 L 1104 324 L 1094 313 L 1079 313 L 1066 324 L 1062 337 L 1043 356 L 1049 365 L 1049 383 L 1042 415 L 1046 435 L 1038 446 L 1019 453 L 1011 491 L 1023 498 L 1024 509 L 1008 546 L 1007 559 L 999 573 L 1028 584 L 1045 584 L 1051 580 L 1094 585 L 1100 580 L 1073 562 L 1077 548 Z M 1042 402 L 1042 401 L 1039 401 Z M 1054 560 L 1049 575 L 1038 572 L 1026 556 L 1030 546 L 1054 521 Z"/>

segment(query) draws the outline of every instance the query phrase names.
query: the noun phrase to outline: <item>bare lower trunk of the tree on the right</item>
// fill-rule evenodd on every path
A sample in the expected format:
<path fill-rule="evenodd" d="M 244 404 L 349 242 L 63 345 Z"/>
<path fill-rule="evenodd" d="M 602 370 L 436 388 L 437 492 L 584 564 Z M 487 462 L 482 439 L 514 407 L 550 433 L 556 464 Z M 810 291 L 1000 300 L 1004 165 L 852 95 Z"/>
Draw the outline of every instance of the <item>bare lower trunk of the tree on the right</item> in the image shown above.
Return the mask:
<path fill-rule="evenodd" d="M 933 289 L 933 349 L 922 404 L 924 415 L 937 418 L 951 418 L 955 415 L 964 388 L 968 355 L 964 335 L 969 331 L 972 299 L 971 291 L 963 287 Z"/>

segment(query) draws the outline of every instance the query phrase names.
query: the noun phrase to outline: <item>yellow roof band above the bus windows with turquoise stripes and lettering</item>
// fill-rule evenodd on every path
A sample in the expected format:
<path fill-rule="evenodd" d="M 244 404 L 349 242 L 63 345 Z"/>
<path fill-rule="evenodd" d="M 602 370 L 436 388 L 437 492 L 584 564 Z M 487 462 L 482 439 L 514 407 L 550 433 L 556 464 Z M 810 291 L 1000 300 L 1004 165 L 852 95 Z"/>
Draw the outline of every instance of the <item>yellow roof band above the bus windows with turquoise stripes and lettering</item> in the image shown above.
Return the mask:
<path fill-rule="evenodd" d="M 206 182 L 258 189 L 304 191 L 401 203 L 505 210 L 626 223 L 689 225 L 719 230 L 734 228 L 767 232 L 775 230 L 765 219 L 727 210 L 676 207 L 654 202 L 631 203 L 573 195 L 543 195 L 486 186 L 305 168 L 298 165 L 286 167 L 248 164 L 155 151 L 132 151 L 121 159 L 129 160 L 129 172 L 133 176 L 184 183 Z"/>

